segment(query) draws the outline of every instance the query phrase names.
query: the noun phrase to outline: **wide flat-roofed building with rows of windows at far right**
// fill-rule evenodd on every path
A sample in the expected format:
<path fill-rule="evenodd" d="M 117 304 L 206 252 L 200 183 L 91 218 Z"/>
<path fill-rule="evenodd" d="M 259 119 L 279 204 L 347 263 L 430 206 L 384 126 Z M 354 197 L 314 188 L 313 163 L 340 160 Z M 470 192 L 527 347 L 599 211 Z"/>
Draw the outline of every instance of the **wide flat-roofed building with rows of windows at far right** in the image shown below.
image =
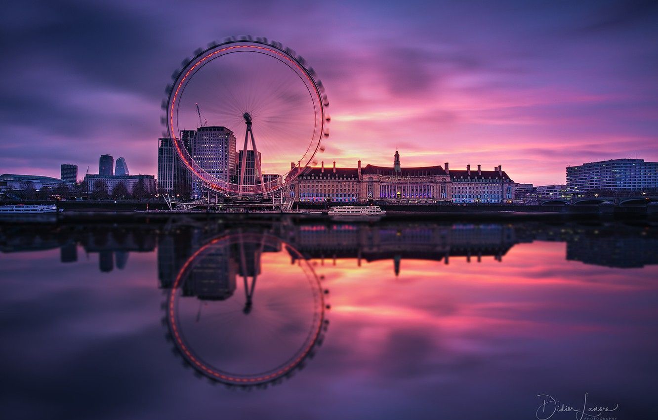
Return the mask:
<path fill-rule="evenodd" d="M 567 167 L 567 190 L 642 190 L 658 188 L 658 162 L 610 159 Z"/>

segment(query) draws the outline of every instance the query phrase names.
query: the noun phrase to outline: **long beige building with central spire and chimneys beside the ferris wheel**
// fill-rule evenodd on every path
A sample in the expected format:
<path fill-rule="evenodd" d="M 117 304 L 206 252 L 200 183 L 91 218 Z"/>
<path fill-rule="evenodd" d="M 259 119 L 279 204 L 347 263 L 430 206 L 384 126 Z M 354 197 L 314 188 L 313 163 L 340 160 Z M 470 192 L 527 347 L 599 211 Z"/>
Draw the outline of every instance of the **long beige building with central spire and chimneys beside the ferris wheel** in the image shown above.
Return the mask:
<path fill-rule="evenodd" d="M 291 167 L 295 167 L 291 163 Z M 297 171 L 300 169 L 297 168 Z M 293 171 L 294 173 L 294 171 Z M 368 199 L 451 201 L 453 203 L 508 203 L 514 198 L 515 183 L 498 166 L 493 171 L 449 169 L 445 163 L 433 167 L 401 167 L 396 150 L 393 167 L 366 165 L 356 168 L 306 167 L 290 186 L 300 201 L 351 203 Z"/>

